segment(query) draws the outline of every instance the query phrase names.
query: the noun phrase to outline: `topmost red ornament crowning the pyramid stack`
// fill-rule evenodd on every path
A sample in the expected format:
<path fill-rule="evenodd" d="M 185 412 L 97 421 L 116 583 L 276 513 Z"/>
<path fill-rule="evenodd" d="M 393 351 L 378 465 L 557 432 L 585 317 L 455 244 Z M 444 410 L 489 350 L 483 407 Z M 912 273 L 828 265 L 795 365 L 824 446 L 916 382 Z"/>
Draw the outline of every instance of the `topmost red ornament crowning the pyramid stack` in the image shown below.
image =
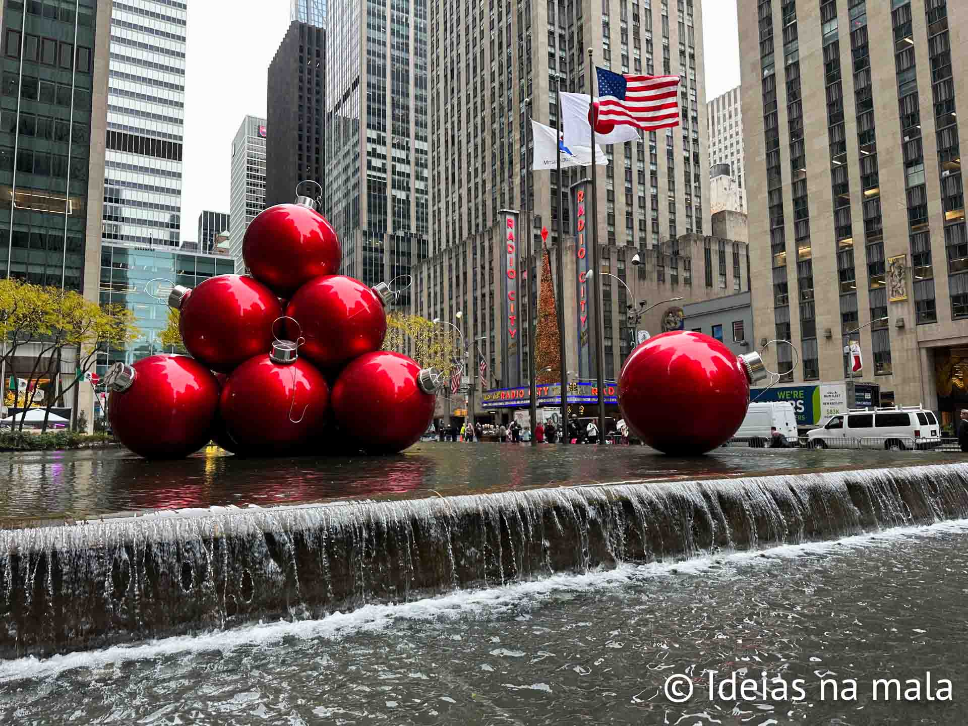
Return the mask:
<path fill-rule="evenodd" d="M 318 209 L 316 199 L 298 196 L 294 204 L 263 209 L 246 228 L 246 267 L 279 295 L 288 297 L 313 278 L 340 270 L 340 240 Z"/>

